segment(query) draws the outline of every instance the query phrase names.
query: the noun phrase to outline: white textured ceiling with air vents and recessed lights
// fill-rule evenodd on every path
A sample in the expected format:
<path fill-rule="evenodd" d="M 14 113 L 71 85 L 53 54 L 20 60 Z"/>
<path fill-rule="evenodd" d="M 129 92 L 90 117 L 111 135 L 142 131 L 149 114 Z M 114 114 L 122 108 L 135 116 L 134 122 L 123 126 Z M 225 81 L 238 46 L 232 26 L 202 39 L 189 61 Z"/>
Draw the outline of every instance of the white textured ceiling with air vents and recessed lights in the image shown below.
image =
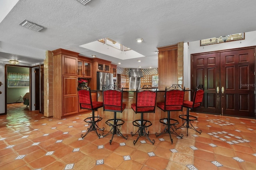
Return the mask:
<path fill-rule="evenodd" d="M 19 0 L 0 23 L 0 61 L 32 65 L 43 61 L 46 50 L 63 48 L 124 68 L 155 68 L 157 47 L 255 31 L 255 8 L 255 0 L 91 0 L 85 6 L 78 0 Z M 24 28 L 24 20 L 46 30 Z M 118 59 L 80 47 L 102 38 L 145 57 Z"/>

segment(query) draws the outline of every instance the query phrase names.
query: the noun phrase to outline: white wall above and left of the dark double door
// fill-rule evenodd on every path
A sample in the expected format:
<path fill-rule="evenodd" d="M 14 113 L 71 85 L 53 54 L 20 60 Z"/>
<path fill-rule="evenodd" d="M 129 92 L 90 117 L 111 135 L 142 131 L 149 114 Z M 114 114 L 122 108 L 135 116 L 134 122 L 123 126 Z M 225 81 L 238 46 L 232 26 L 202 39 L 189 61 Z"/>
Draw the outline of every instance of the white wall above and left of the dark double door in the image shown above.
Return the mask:
<path fill-rule="evenodd" d="M 210 38 L 210 37 L 209 37 Z M 218 43 L 213 45 L 205 45 L 200 46 L 200 41 L 184 43 L 184 63 L 183 63 L 183 75 L 184 75 L 184 86 L 190 87 L 190 55 L 194 53 L 204 53 L 209 51 L 218 51 L 224 49 L 233 49 L 240 47 L 250 47 L 256 45 L 256 31 L 246 32 L 245 40 L 234 41 L 234 42 L 226 42 L 226 43 Z"/>

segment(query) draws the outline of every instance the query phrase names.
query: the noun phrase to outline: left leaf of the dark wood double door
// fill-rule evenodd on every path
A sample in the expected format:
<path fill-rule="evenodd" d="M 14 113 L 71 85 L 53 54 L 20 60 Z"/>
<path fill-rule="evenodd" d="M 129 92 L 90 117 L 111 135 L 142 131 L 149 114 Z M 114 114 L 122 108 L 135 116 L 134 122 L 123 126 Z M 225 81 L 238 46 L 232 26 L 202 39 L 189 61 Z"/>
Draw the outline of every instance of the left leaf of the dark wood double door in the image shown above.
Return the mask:
<path fill-rule="evenodd" d="M 202 113 L 219 113 L 220 56 L 218 53 L 193 55 L 192 89 L 204 86 L 204 99 L 200 108 L 194 111 Z M 192 94 L 193 96 L 193 94 Z"/>

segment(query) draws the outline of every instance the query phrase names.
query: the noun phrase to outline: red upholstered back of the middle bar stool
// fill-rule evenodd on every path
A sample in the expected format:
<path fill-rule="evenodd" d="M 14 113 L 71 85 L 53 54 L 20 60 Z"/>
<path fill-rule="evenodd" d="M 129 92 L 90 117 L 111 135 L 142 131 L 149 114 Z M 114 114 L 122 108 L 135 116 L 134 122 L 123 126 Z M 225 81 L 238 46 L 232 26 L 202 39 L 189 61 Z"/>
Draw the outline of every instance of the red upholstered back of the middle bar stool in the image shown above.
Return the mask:
<path fill-rule="evenodd" d="M 155 113 L 156 91 L 137 90 L 136 96 L 136 113 Z"/>

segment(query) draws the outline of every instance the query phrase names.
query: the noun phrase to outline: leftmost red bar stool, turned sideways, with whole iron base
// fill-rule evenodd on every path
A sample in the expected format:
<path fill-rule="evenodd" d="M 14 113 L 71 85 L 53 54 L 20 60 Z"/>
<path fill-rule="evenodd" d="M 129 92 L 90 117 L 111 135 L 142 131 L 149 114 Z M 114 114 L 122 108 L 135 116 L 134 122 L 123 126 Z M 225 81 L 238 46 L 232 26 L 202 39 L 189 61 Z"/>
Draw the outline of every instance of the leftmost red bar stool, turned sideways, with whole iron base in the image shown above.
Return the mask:
<path fill-rule="evenodd" d="M 102 117 L 95 116 L 94 111 L 100 107 L 103 107 L 103 102 L 92 101 L 90 87 L 88 87 L 88 90 L 78 90 L 78 100 L 81 109 L 88 109 L 92 111 L 92 117 L 87 117 L 84 119 L 84 121 L 88 123 L 90 127 L 88 128 L 86 134 L 82 134 L 81 137 L 84 138 L 89 132 L 94 131 L 96 132 L 98 138 L 100 138 L 100 134 L 97 132 L 97 129 L 103 131 L 104 128 L 99 128 L 97 123 L 102 120 Z"/>

